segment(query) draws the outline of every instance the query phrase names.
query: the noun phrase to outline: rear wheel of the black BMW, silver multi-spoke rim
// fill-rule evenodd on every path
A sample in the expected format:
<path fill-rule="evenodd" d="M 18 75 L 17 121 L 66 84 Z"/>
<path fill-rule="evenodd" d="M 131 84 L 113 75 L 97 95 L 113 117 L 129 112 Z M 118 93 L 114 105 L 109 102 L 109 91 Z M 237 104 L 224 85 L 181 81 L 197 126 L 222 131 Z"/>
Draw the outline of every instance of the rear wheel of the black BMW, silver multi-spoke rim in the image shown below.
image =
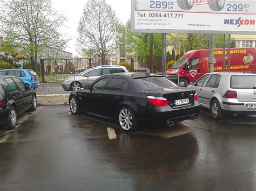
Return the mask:
<path fill-rule="evenodd" d="M 138 130 L 138 121 L 136 115 L 129 107 L 123 107 L 119 110 L 118 122 L 124 131 L 132 132 Z"/>

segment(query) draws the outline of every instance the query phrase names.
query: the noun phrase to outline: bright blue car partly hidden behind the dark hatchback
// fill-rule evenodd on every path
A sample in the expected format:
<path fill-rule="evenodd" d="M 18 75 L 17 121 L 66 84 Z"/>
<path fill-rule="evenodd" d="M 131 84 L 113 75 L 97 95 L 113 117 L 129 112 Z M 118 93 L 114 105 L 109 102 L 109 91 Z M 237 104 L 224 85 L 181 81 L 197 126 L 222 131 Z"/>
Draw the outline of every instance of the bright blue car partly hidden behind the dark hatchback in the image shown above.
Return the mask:
<path fill-rule="evenodd" d="M 0 75 L 16 76 L 33 89 L 38 88 L 40 84 L 37 74 L 32 69 L 2 69 Z"/>

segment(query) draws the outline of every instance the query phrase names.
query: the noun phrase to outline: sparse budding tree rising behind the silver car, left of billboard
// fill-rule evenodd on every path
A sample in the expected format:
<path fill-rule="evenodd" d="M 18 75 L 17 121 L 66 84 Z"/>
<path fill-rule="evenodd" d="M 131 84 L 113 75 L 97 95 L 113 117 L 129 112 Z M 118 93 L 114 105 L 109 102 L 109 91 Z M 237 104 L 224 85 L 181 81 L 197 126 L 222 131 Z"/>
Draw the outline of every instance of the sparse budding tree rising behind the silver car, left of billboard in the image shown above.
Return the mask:
<path fill-rule="evenodd" d="M 106 56 L 116 50 L 118 25 L 116 12 L 105 0 L 87 1 L 77 29 L 77 49 L 100 56 L 104 65 Z"/>

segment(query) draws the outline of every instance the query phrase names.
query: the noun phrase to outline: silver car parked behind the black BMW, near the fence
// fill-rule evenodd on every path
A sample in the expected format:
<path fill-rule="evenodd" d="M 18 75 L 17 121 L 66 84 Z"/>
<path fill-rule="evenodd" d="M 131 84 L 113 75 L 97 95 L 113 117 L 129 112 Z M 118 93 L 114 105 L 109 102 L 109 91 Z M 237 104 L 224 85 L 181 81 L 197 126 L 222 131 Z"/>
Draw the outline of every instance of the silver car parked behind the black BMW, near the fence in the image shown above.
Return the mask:
<path fill-rule="evenodd" d="M 84 72 L 74 76 L 67 77 L 62 82 L 62 88 L 66 90 L 75 90 L 83 88 L 85 85 L 90 85 L 97 80 L 100 76 L 105 74 L 123 73 L 128 72 L 124 66 L 97 66 L 85 70 Z M 76 83 L 74 82 L 76 79 Z"/>

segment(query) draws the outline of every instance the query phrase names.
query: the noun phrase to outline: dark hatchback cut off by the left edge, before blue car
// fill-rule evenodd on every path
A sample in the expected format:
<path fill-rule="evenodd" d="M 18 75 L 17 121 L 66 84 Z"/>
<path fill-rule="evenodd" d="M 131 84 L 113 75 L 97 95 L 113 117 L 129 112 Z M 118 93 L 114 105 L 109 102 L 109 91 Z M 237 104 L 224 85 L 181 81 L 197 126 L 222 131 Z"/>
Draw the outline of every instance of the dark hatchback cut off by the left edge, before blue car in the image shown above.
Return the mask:
<path fill-rule="evenodd" d="M 37 108 L 36 92 L 15 76 L 0 76 L 0 124 L 14 129 L 17 116 Z"/>

